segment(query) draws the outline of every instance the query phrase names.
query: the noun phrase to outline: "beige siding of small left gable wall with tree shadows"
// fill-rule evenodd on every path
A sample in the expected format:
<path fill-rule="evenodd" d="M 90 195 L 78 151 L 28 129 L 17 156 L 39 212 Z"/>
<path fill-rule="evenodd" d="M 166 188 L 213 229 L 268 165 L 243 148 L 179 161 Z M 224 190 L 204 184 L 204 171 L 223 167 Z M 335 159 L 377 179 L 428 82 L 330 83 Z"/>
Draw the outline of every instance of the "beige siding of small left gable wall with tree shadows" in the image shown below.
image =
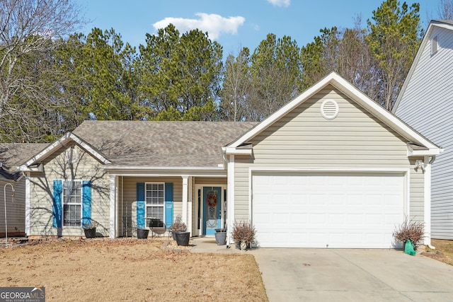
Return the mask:
<path fill-rule="evenodd" d="M 53 180 L 91 181 L 91 219 L 98 223 L 96 232 L 108 236 L 110 219 L 110 178 L 102 164 L 78 146 L 79 161 L 69 165 L 65 152 L 71 144 L 47 158 L 44 173 L 32 173 L 30 180 L 30 236 L 83 236 L 79 227 L 52 227 Z"/>

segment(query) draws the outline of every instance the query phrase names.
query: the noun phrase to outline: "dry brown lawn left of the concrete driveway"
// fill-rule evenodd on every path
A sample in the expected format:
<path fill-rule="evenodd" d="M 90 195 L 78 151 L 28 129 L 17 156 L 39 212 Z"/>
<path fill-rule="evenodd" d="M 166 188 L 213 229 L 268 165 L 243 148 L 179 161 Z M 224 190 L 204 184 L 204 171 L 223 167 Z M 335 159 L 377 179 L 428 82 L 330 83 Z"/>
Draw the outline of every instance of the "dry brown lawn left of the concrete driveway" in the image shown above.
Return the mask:
<path fill-rule="evenodd" d="M 46 301 L 268 301 L 253 255 L 168 247 L 91 239 L 0 248 L 0 286 L 45 286 Z"/>

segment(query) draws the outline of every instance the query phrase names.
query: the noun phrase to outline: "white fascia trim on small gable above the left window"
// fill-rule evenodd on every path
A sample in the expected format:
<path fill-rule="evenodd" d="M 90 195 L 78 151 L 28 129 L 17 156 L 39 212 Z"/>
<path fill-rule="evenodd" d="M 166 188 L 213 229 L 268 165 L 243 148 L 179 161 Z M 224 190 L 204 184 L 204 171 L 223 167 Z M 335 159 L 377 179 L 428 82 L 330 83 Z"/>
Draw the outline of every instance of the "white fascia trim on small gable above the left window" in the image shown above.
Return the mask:
<path fill-rule="evenodd" d="M 56 150 L 58 150 L 59 148 L 64 146 L 64 144 L 69 140 L 74 141 L 76 144 L 81 146 L 81 148 L 88 151 L 88 153 L 91 153 L 91 155 L 94 156 L 95 158 L 97 158 L 99 161 L 101 161 L 101 163 L 104 163 L 104 164 L 110 163 L 110 161 L 108 161 L 107 158 L 103 157 L 100 153 L 98 153 L 98 151 L 94 150 L 90 145 L 86 144 L 86 142 L 83 139 L 80 139 L 75 134 L 68 132 L 67 134 L 64 134 L 62 137 L 60 137 L 57 141 L 55 141 L 54 143 L 47 146 L 46 149 L 42 150 L 36 156 L 33 156 L 33 158 L 30 158 L 30 160 L 27 161 L 25 163 L 25 165 L 21 165 L 19 167 L 19 170 L 31 171 L 31 172 L 35 171 L 35 170 L 33 170 L 33 168 L 30 168 L 30 165 L 33 165 L 34 163 L 42 161 L 42 159 L 46 158 L 47 156 L 49 156 L 50 154 L 52 154 L 53 152 L 55 152 Z"/>

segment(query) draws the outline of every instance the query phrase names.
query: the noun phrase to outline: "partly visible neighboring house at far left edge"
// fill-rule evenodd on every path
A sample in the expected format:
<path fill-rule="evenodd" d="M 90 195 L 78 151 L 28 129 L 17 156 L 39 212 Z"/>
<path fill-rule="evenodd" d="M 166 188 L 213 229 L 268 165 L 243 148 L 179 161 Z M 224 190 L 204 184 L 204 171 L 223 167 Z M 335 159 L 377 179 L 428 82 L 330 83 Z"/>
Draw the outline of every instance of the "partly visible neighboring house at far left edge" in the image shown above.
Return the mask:
<path fill-rule="evenodd" d="M 6 236 L 5 221 L 8 237 L 25 236 L 25 178 L 18 165 L 45 146 L 47 144 L 0 144 L 0 237 Z"/>

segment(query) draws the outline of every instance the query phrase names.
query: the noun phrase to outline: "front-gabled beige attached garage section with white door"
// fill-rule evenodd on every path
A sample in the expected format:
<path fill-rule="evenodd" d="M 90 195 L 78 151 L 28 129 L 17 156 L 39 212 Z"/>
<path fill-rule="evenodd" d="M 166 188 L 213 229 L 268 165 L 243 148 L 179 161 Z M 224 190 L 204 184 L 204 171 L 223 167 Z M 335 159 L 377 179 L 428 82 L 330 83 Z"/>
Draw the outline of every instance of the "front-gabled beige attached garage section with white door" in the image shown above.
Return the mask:
<path fill-rule="evenodd" d="M 424 223 L 430 244 L 431 163 L 442 149 L 338 74 L 223 150 L 228 229 L 250 221 L 261 248 L 399 248 L 406 216 Z"/>

